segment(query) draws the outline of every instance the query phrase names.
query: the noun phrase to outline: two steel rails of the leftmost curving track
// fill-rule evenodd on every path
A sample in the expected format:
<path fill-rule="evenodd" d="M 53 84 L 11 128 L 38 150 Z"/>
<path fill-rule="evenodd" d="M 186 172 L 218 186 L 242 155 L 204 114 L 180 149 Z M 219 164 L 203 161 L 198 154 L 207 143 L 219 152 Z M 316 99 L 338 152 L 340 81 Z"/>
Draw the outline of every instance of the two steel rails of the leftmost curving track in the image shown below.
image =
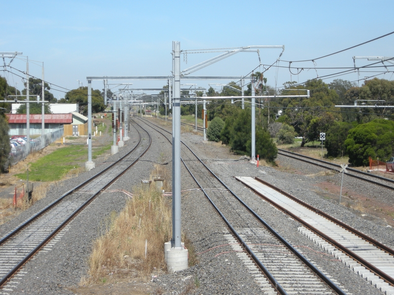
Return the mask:
<path fill-rule="evenodd" d="M 136 123 L 136 122 L 135 122 Z M 140 126 L 143 130 L 145 130 L 141 125 L 139 125 L 138 123 L 136 123 L 138 126 Z M 94 195 L 92 195 L 87 201 L 85 201 L 85 203 L 83 203 L 80 207 L 78 207 L 76 210 L 74 210 L 74 212 L 72 212 L 54 231 L 52 231 L 48 236 L 46 236 L 31 252 L 29 252 L 29 254 L 27 254 L 16 266 L 14 266 L 3 278 L 1 278 L 0 280 L 0 286 L 2 286 L 4 283 L 6 283 L 8 281 L 8 279 L 16 272 L 18 271 L 18 269 L 23 266 L 42 246 L 44 246 L 53 236 L 55 236 L 78 212 L 80 212 L 86 205 L 88 205 L 97 195 L 99 195 L 99 193 L 101 193 L 102 190 L 104 190 L 105 188 L 107 188 L 108 186 L 110 186 L 114 181 L 116 181 L 119 177 L 121 177 L 124 173 L 126 173 L 127 170 L 130 169 L 131 166 L 133 166 L 150 148 L 151 144 L 152 144 L 152 138 L 149 134 L 149 132 L 147 130 L 145 130 L 148 135 L 149 135 L 149 145 L 148 147 L 134 160 L 131 162 L 130 165 L 128 165 L 126 167 L 126 169 L 124 169 L 122 172 L 120 172 L 117 176 L 113 177 L 109 182 L 107 182 L 105 185 L 103 185 Z M 82 184 L 78 185 L 77 187 L 75 187 L 74 189 L 70 190 L 69 192 L 67 192 L 65 195 L 63 195 L 60 199 L 64 199 L 67 195 L 70 194 L 70 192 L 75 191 L 77 188 L 80 188 L 83 184 L 86 184 L 88 181 L 93 180 L 94 178 L 98 177 L 99 175 L 101 175 L 104 171 L 107 171 L 109 168 L 113 167 L 115 164 L 118 164 L 121 160 L 123 160 L 126 156 L 130 155 L 132 151 L 134 151 L 139 144 L 141 143 L 141 134 L 140 132 L 138 132 L 139 135 L 139 140 L 137 142 L 137 144 L 135 145 L 134 148 L 132 148 L 125 156 L 121 157 L 119 160 L 115 161 L 113 164 L 111 164 L 110 166 L 108 166 L 106 169 L 102 170 L 101 172 L 99 172 L 97 175 L 90 177 L 88 180 L 84 181 Z M 31 223 L 33 221 L 33 219 L 37 218 L 39 215 L 41 215 L 43 212 L 47 211 L 49 208 L 53 207 L 54 205 L 56 205 L 57 203 L 59 203 L 60 200 L 58 199 L 57 201 L 53 202 L 52 204 L 50 204 L 48 207 L 44 208 L 44 210 L 40 211 L 39 213 L 37 213 L 36 215 L 34 215 L 31 219 L 29 219 L 29 222 L 25 222 L 23 225 L 21 225 L 20 227 L 18 227 L 18 231 L 20 231 L 23 227 L 25 227 L 26 225 L 28 225 L 29 223 Z M 23 227 L 22 227 L 23 226 Z M 14 233 L 15 234 L 15 233 Z M 8 235 L 7 235 L 8 236 Z M 11 237 L 11 236 L 9 236 Z M 8 238 L 9 238 L 8 237 Z M 7 238 L 7 239 L 8 239 Z M 4 242 L 4 238 L 1 239 L 2 242 Z"/>

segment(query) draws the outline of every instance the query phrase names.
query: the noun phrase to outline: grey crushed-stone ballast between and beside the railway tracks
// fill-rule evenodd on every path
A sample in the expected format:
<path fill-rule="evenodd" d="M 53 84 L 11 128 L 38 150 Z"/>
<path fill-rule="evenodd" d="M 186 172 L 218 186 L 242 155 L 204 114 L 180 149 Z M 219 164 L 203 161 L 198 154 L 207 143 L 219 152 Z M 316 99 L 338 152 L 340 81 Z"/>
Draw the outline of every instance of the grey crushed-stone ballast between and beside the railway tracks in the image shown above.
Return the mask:
<path fill-rule="evenodd" d="M 164 137 L 147 127 L 152 135 L 152 147 L 107 191 L 78 214 L 58 235 L 31 259 L 15 276 L 18 278 L 14 291 L 9 294 L 74 294 L 70 287 L 77 286 L 82 276 L 86 275 L 87 260 L 92 250 L 93 240 L 105 231 L 105 225 L 112 211 L 119 212 L 129 198 L 116 189 L 131 191 L 132 186 L 148 178 L 155 163 L 171 163 L 171 147 Z M 115 159 L 128 148 L 133 147 L 137 138 L 131 130 L 131 139 L 119 153 L 109 156 L 105 162 L 96 163 L 96 168 L 78 177 L 67 179 L 53 186 L 47 197 L 38 201 L 29 210 L 10 222 L 0 226 L 0 236 L 14 229 L 32 216 L 40 208 L 53 202 L 82 180 L 88 179 Z M 317 193 L 316 183 L 331 181 L 337 183 L 338 176 L 318 174 L 321 168 L 300 164 L 293 159 L 280 158 L 281 165 L 297 167 L 303 175 L 278 171 L 271 167 L 259 167 L 249 163 L 245 157 L 229 153 L 228 148 L 212 142 L 203 142 L 200 135 L 182 133 L 182 140 L 217 174 L 244 202 L 263 217 L 280 235 L 288 239 L 293 246 L 331 277 L 348 294 L 382 294 L 368 284 L 358 274 L 334 257 L 326 255 L 315 243 L 297 231 L 298 222 L 258 198 L 253 192 L 234 179 L 234 176 L 261 177 L 297 198 L 318 207 L 343 222 L 361 230 L 365 234 L 394 247 L 393 228 L 382 220 L 366 220 L 360 214 L 347 207 L 325 199 Z M 168 165 L 170 166 L 170 165 Z M 170 168 L 170 167 L 169 167 Z M 205 172 L 204 172 L 205 173 Z M 314 177 L 307 175 L 317 175 Z M 193 242 L 198 263 L 177 273 L 161 273 L 152 278 L 149 287 L 151 294 L 263 294 L 261 286 L 249 273 L 246 266 L 233 252 L 225 235 L 229 233 L 224 222 L 205 199 L 197 184 L 182 167 L 182 231 Z M 171 181 L 168 179 L 168 181 Z M 351 189 L 365 190 L 364 184 L 353 180 Z M 348 185 L 348 184 L 347 184 Z M 365 185 L 367 186 L 367 185 Z M 187 190 L 187 191 L 186 191 Z M 379 196 L 375 196 L 379 198 Z M 20 278 L 20 279 L 19 279 Z M 13 286 L 15 286 L 13 285 Z M 103 285 L 105 288 L 105 284 Z M 2 290 L 0 290 L 0 293 Z M 132 292 L 130 292 L 132 294 Z"/>

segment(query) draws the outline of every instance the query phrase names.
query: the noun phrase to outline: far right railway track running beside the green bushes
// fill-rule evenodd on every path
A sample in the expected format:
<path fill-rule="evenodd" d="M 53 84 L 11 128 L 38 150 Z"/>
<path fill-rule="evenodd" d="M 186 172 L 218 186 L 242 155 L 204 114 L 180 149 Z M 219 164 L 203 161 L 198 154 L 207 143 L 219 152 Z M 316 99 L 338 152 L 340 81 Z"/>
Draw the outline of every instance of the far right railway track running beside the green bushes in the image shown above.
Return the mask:
<path fill-rule="evenodd" d="M 319 160 L 319 159 L 315 159 L 312 157 L 308 157 L 305 155 L 301 155 L 301 154 L 297 154 L 288 150 L 284 150 L 284 149 L 279 149 L 278 148 L 278 154 L 286 156 L 286 157 L 290 157 L 305 163 L 309 163 L 312 165 L 316 165 L 325 169 L 329 169 L 329 170 L 333 170 L 335 172 L 339 172 L 341 169 L 341 166 L 338 164 L 334 164 L 334 163 L 330 163 L 327 161 L 323 161 L 323 160 Z M 374 174 L 370 174 L 370 173 L 365 173 L 362 171 L 359 171 L 357 169 L 353 169 L 353 168 L 346 168 L 346 170 L 348 171 L 346 173 L 346 175 L 350 176 L 350 177 L 354 177 L 363 181 L 367 181 L 369 183 L 373 183 L 385 188 L 388 188 L 390 190 L 394 190 L 394 180 L 390 179 L 390 178 L 386 178 L 386 177 L 381 177 L 378 175 L 374 175 Z"/>

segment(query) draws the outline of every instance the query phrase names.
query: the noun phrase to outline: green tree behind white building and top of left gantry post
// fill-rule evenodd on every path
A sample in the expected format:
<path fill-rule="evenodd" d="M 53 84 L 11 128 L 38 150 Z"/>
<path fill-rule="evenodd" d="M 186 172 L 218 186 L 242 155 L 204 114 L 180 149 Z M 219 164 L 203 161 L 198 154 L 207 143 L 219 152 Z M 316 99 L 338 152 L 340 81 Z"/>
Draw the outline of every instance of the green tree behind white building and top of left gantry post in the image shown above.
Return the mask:
<path fill-rule="evenodd" d="M 88 88 L 73 89 L 66 93 L 65 103 L 78 103 L 82 114 L 88 115 Z M 105 110 L 104 98 L 99 89 L 92 89 L 92 113 L 100 113 Z"/>

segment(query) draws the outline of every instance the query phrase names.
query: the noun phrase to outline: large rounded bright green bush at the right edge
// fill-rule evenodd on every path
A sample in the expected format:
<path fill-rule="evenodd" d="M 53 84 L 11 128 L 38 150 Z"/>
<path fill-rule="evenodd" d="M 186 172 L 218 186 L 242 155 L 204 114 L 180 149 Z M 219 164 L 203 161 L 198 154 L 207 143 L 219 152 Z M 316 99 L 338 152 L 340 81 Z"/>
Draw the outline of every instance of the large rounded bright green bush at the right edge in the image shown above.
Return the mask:
<path fill-rule="evenodd" d="M 349 162 L 368 165 L 368 157 L 387 161 L 394 153 L 394 121 L 374 119 L 349 130 L 345 141 Z"/>

